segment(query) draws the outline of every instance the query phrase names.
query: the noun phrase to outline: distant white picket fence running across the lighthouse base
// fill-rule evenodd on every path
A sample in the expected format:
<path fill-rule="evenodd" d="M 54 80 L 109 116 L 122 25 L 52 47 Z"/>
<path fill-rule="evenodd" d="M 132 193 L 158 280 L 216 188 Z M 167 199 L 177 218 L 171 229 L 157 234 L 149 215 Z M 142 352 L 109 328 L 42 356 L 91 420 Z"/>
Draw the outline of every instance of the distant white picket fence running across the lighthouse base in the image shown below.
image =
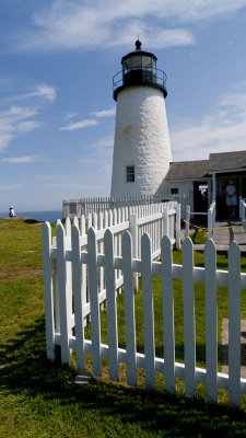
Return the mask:
<path fill-rule="evenodd" d="M 185 207 L 188 204 L 185 195 L 164 194 L 162 197 L 154 195 L 142 196 L 121 196 L 121 197 L 95 197 L 95 198 L 79 198 L 63 199 L 62 215 L 63 218 L 73 219 L 75 216 L 87 217 L 89 214 L 115 210 L 118 208 L 130 209 L 138 206 L 153 206 L 165 201 L 177 201 L 181 206 L 181 217 L 185 217 Z"/>

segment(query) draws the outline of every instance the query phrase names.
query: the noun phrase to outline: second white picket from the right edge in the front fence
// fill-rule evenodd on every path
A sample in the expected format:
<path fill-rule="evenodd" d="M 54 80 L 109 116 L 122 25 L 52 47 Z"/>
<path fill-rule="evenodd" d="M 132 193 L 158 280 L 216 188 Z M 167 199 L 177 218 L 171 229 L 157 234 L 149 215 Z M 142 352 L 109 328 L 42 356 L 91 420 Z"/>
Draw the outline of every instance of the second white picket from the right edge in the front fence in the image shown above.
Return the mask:
<path fill-rule="evenodd" d="M 216 315 L 216 250 L 212 240 L 204 246 L 204 293 L 206 293 L 206 367 L 207 399 L 218 397 L 218 315 Z"/>

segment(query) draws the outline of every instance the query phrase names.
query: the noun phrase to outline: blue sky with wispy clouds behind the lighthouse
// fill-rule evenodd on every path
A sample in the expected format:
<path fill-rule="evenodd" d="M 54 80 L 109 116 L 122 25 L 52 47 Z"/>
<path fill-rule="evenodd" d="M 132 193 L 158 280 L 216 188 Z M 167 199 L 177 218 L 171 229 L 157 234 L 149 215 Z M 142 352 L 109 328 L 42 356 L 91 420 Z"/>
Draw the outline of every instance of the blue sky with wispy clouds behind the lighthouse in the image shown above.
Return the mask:
<path fill-rule="evenodd" d="M 107 196 L 112 78 L 157 56 L 173 159 L 246 149 L 246 0 L 1 0 L 0 211 Z"/>

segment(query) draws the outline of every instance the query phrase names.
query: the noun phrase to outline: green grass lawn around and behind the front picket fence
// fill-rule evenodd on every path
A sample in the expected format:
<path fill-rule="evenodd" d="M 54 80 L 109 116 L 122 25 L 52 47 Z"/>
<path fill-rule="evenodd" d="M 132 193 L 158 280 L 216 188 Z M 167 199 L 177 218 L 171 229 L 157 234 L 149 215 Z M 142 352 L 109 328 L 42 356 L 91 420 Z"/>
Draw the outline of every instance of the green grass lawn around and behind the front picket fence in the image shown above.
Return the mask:
<path fill-rule="evenodd" d="M 144 390 L 139 372 L 137 389 L 126 384 L 126 369 L 120 367 L 120 382 L 108 380 L 104 361 L 103 378 L 92 379 L 85 388 L 73 384 L 72 366 L 60 367 L 59 360 L 46 360 L 44 326 L 44 290 L 42 270 L 42 226 L 24 220 L 0 219 L 0 437 L 243 437 L 246 413 L 223 404 L 226 393 L 220 391 L 219 405 L 204 403 L 204 390 L 198 388 L 194 400 L 184 396 L 177 381 L 177 396 L 157 390 Z M 203 256 L 196 253 L 196 264 Z M 181 262 L 174 252 L 174 262 Z M 226 268 L 226 257 L 218 266 Z M 246 270 L 246 260 L 242 258 Z M 160 279 L 153 278 L 156 355 L 163 356 Z M 184 360 L 181 283 L 174 281 L 176 360 Z M 218 289 L 219 333 L 222 318 L 227 316 L 226 288 Z M 125 345 L 122 296 L 117 299 L 119 344 Z M 196 285 L 197 364 L 204 366 L 203 289 Z M 242 318 L 246 318 L 242 299 Z M 136 296 L 137 343 L 143 351 L 141 292 Z M 106 342 L 106 311 L 102 313 L 102 341 Z M 90 326 L 86 328 L 90 336 Z M 91 361 L 87 358 L 87 370 Z"/>

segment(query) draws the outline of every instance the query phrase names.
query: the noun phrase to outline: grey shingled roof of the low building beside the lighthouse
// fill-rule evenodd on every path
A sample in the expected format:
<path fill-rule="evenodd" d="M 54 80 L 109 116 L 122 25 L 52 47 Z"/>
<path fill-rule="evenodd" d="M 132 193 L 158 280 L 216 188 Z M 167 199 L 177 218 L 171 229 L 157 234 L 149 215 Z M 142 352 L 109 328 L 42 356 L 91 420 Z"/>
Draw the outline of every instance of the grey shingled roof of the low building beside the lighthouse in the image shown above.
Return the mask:
<path fill-rule="evenodd" d="M 196 180 L 211 172 L 246 169 L 246 151 L 210 153 L 209 160 L 177 161 L 169 164 L 165 180 Z"/>

